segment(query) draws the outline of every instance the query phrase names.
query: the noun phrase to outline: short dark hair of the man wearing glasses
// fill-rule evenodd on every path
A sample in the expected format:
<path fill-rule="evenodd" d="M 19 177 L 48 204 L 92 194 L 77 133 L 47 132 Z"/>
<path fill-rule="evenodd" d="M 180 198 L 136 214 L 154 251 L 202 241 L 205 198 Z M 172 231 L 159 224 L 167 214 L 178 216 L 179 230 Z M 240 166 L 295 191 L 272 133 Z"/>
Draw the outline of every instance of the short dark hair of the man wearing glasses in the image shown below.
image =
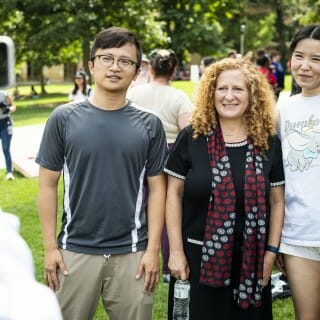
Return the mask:
<path fill-rule="evenodd" d="M 137 68 L 139 68 L 142 56 L 140 40 L 133 32 L 120 27 L 104 29 L 97 34 L 91 48 L 90 60 L 92 61 L 98 49 L 120 48 L 127 43 L 134 44 L 137 49 Z"/>

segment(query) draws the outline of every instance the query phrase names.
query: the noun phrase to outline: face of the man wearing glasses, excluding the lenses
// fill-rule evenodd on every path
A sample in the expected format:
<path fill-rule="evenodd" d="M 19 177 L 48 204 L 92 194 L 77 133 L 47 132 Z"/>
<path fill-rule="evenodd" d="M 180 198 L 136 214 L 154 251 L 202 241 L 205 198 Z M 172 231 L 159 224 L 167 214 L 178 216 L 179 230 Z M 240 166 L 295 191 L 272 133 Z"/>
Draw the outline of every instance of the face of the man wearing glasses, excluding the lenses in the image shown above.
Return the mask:
<path fill-rule="evenodd" d="M 110 55 L 115 61 L 109 67 L 105 67 L 98 55 Z M 127 43 L 119 48 L 98 49 L 95 57 L 93 61 L 89 61 L 89 70 L 95 81 L 95 91 L 125 92 L 137 76 L 137 67 L 131 65 L 128 69 L 124 69 L 119 67 L 117 61 L 120 58 L 137 61 L 135 45 Z"/>

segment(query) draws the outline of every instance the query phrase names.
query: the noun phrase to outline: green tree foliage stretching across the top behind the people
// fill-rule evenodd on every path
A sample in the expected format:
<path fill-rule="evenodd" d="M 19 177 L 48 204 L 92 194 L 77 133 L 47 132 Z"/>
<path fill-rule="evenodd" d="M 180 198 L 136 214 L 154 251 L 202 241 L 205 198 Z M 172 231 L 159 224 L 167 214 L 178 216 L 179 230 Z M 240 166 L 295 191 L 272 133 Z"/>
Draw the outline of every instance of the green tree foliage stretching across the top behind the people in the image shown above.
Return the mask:
<path fill-rule="evenodd" d="M 41 75 L 44 65 L 86 66 L 94 36 L 113 25 L 135 31 L 146 53 L 171 47 L 181 62 L 190 53 L 239 51 L 242 24 L 245 51 L 275 47 L 285 55 L 294 31 L 319 13 L 320 0 L 10 0 L 1 1 L 0 34 L 14 39 L 18 64 Z"/>

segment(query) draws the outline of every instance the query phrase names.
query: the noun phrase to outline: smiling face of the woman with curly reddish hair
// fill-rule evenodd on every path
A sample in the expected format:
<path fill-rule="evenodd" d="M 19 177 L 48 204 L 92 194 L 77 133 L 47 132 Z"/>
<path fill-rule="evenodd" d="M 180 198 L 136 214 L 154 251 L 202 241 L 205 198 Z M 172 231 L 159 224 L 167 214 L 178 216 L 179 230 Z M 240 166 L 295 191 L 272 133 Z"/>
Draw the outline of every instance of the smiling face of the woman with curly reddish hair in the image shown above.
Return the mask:
<path fill-rule="evenodd" d="M 221 72 L 215 89 L 215 107 L 220 119 L 242 121 L 248 104 L 249 91 L 242 71 Z"/>

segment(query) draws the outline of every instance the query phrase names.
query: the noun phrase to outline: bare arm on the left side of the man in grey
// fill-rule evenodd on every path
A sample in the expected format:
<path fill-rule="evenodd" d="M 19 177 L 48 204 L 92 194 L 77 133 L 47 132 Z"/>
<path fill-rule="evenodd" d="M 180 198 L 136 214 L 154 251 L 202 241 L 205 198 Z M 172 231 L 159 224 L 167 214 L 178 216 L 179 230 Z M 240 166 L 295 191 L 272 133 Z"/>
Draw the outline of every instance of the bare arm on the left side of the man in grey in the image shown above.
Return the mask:
<path fill-rule="evenodd" d="M 57 267 L 67 274 L 56 241 L 57 191 L 60 175 L 60 171 L 52 171 L 40 166 L 38 211 L 44 243 L 44 279 L 54 291 L 59 289 Z"/>

